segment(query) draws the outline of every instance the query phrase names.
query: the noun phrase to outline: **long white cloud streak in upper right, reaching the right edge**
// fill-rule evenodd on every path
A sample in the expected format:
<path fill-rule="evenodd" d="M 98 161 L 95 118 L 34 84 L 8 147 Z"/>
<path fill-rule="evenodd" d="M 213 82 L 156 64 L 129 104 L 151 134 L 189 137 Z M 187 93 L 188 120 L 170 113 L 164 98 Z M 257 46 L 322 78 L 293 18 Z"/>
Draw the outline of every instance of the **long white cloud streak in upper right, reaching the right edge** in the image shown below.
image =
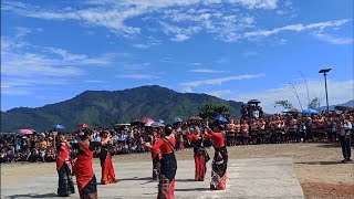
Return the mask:
<path fill-rule="evenodd" d="M 244 38 L 267 38 L 273 34 L 278 34 L 280 32 L 284 31 L 306 31 L 306 30 L 316 30 L 316 31 L 323 31 L 326 28 L 335 28 L 335 27 L 341 27 L 352 20 L 348 19 L 343 19 L 343 20 L 337 20 L 337 21 L 325 21 L 325 22 L 319 22 L 319 23 L 311 23 L 308 25 L 303 24 L 290 24 L 281 28 L 275 28 L 273 30 L 259 30 L 259 31 L 251 31 L 251 32 L 246 32 L 243 34 Z"/>

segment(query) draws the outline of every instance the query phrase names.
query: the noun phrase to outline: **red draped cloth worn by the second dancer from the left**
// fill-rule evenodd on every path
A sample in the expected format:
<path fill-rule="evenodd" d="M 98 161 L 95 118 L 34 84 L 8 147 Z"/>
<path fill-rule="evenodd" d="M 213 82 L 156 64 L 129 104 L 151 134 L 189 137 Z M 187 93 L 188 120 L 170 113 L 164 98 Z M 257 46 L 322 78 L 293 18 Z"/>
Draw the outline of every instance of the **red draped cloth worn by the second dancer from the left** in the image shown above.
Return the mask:
<path fill-rule="evenodd" d="M 79 143 L 79 147 L 83 153 L 77 156 L 74 165 L 74 174 L 79 189 L 83 189 L 94 176 L 92 168 L 93 151 L 83 143 Z"/>

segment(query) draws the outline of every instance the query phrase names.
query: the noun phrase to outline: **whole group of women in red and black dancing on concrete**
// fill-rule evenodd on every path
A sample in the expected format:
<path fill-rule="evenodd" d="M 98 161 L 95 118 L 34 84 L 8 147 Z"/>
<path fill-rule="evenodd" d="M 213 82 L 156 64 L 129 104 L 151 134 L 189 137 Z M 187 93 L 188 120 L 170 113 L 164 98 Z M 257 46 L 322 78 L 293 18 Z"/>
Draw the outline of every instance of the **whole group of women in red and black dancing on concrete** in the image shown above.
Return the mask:
<path fill-rule="evenodd" d="M 211 190 L 225 190 L 227 179 L 228 153 L 221 134 L 223 125 L 221 123 L 210 124 L 209 127 L 195 127 L 194 134 L 188 135 L 188 142 L 194 147 L 195 158 L 195 180 L 204 181 L 207 172 L 207 161 L 210 159 L 207 150 L 204 148 L 204 140 L 210 139 L 215 148 L 215 156 L 211 164 Z M 85 129 L 82 140 L 77 144 L 70 144 L 63 135 L 58 136 L 58 160 L 56 169 L 59 175 L 58 195 L 67 197 L 75 192 L 72 175 L 76 178 L 76 185 L 81 199 L 97 198 L 97 182 L 93 171 L 93 150 L 101 147 L 101 184 L 117 182 L 115 178 L 112 158 L 110 154 L 108 132 L 104 132 L 102 142 L 92 142 L 93 132 Z M 157 199 L 175 198 L 175 176 L 177 172 L 177 160 L 175 157 L 176 138 L 174 127 L 166 125 L 164 134 L 152 143 L 142 139 L 143 146 L 150 149 L 153 159 L 153 179 L 158 181 Z M 77 149 L 77 159 L 73 164 L 70 157 L 70 149 Z M 72 167 L 72 165 L 74 165 Z"/>

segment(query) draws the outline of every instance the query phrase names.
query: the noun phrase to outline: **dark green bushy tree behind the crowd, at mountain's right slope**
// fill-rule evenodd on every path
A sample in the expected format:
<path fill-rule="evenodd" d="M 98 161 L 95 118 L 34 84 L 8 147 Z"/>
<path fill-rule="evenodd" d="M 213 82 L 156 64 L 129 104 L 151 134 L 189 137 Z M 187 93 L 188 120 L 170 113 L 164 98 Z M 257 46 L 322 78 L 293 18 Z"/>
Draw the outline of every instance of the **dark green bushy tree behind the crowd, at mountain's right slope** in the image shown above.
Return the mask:
<path fill-rule="evenodd" d="M 230 117 L 229 109 L 223 104 L 206 104 L 199 108 L 199 116 L 201 118 L 214 118 L 218 115 Z"/>

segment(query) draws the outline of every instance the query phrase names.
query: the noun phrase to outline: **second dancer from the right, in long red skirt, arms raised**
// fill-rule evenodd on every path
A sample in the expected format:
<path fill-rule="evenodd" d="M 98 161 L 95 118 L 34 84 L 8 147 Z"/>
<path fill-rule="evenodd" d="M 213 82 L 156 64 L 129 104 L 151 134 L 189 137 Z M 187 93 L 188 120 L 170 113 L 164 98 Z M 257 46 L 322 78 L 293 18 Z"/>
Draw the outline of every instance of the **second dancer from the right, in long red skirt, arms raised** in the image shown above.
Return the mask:
<path fill-rule="evenodd" d="M 207 172 L 207 161 L 210 159 L 207 150 L 204 148 L 204 137 L 199 133 L 198 126 L 195 129 L 190 130 L 191 135 L 188 135 L 188 142 L 194 148 L 195 153 L 195 165 L 196 165 L 196 172 L 195 172 L 195 180 L 196 181 L 204 181 Z"/>

